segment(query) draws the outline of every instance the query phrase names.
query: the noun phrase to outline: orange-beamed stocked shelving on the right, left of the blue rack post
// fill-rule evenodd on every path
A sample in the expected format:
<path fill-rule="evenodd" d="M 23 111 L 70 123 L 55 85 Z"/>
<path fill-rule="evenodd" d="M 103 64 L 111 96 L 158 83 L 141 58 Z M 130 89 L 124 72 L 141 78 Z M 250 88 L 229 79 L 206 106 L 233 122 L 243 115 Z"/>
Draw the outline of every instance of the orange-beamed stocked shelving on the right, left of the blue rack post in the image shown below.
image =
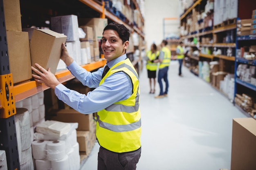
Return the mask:
<path fill-rule="evenodd" d="M 189 55 L 185 57 L 186 66 L 232 102 L 236 62 L 236 18 L 246 18 L 244 11 L 255 6 L 247 2 L 197 0 L 191 2 L 180 18 L 181 39 L 189 49 Z M 227 88 L 229 85 L 233 90 Z"/>

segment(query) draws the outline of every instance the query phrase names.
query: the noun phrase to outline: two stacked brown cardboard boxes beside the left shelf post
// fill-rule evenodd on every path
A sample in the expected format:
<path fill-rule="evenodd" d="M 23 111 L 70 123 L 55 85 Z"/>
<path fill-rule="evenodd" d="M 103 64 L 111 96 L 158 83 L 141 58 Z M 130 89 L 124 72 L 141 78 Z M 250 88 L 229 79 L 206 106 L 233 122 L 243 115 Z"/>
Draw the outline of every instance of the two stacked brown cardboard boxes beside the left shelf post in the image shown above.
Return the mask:
<path fill-rule="evenodd" d="M 22 32 L 20 1 L 4 0 L 4 17 L 7 35 L 10 72 L 13 83 L 29 81 L 32 78 L 29 52 L 29 35 Z"/>

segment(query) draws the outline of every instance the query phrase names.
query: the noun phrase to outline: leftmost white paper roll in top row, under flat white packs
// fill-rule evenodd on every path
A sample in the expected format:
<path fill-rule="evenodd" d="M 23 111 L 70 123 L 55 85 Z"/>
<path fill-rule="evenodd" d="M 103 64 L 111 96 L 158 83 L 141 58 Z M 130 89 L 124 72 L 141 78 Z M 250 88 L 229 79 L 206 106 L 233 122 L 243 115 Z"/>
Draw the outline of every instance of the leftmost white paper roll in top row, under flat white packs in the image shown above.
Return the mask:
<path fill-rule="evenodd" d="M 33 141 L 32 142 L 32 155 L 34 159 L 45 159 L 46 158 L 46 144 L 50 141 Z"/>

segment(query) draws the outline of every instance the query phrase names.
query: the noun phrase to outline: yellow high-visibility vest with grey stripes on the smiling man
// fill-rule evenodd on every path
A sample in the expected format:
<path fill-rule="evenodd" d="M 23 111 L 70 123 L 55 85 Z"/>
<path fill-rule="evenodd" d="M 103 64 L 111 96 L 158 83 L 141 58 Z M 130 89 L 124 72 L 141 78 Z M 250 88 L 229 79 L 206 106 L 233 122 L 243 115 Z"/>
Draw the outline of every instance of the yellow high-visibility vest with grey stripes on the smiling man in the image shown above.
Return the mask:
<path fill-rule="evenodd" d="M 139 77 L 129 59 L 110 68 L 99 85 L 117 72 L 123 71 L 132 81 L 132 95 L 97 113 L 96 136 L 100 146 L 112 152 L 130 152 L 141 146 L 141 117 L 139 110 Z"/>

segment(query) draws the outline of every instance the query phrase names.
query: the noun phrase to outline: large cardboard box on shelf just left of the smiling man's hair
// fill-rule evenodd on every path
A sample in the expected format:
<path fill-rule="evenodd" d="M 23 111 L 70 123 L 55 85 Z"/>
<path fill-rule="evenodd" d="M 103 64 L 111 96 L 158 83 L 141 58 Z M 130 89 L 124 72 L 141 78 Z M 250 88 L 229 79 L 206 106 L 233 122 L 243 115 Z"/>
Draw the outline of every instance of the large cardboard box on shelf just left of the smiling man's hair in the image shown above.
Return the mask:
<path fill-rule="evenodd" d="M 91 26 L 93 28 L 93 40 L 102 38 L 103 29 L 108 25 L 107 18 L 79 18 L 79 26 Z"/>

